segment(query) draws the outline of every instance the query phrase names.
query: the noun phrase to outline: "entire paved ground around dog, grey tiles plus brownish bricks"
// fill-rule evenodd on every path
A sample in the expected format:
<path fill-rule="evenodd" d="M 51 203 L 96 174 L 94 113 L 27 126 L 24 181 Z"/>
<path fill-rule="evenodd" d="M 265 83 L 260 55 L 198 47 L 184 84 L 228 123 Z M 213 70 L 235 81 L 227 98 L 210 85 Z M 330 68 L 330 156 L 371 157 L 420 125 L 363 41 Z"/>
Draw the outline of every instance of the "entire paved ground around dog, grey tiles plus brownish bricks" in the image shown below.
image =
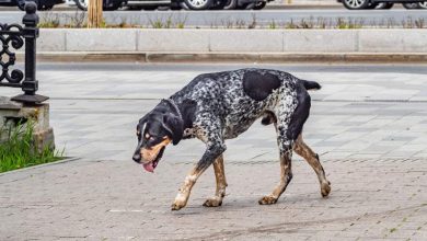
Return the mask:
<path fill-rule="evenodd" d="M 323 84 L 312 92 L 305 141 L 327 179 L 297 156 L 277 205 L 258 206 L 279 180 L 272 127 L 227 142 L 223 206 L 208 170 L 187 208 L 170 211 L 201 156 L 197 140 L 170 147 L 155 174 L 132 163 L 135 127 L 160 99 L 201 72 L 275 68 Z M 412 66 L 39 65 L 57 146 L 79 160 L 0 175 L 2 240 L 426 240 L 427 68 Z M 10 89 L 0 95 L 13 95 Z M 18 93 L 18 92 L 15 92 Z"/>

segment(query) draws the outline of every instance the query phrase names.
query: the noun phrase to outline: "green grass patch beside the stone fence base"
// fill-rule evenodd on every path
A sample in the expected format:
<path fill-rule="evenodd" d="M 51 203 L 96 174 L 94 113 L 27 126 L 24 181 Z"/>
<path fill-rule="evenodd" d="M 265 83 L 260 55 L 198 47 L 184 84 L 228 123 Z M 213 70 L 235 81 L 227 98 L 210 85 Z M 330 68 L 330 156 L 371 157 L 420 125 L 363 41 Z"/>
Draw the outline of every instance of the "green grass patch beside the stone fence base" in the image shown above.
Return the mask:
<path fill-rule="evenodd" d="M 0 173 L 31 165 L 43 164 L 60 160 L 62 151 L 45 147 L 37 151 L 33 145 L 34 123 L 28 120 L 25 125 L 13 128 L 0 128 Z"/>

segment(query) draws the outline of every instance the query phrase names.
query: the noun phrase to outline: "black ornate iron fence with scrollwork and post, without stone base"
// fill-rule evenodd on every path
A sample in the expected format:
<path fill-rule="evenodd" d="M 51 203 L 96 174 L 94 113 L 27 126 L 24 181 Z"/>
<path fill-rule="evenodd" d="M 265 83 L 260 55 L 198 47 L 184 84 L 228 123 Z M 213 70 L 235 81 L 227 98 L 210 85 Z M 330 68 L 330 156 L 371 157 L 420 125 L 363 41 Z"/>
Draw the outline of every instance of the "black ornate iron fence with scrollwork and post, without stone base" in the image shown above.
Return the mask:
<path fill-rule="evenodd" d="M 12 97 L 30 104 L 41 103 L 48 97 L 36 94 L 38 81 L 36 79 L 36 39 L 38 37 L 37 5 L 34 2 L 26 2 L 25 15 L 22 19 L 24 26 L 20 24 L 0 23 L 0 87 L 21 88 L 24 92 Z M 25 71 L 15 69 L 16 55 L 14 50 L 25 46 Z M 13 48 L 13 49 L 12 49 Z"/>

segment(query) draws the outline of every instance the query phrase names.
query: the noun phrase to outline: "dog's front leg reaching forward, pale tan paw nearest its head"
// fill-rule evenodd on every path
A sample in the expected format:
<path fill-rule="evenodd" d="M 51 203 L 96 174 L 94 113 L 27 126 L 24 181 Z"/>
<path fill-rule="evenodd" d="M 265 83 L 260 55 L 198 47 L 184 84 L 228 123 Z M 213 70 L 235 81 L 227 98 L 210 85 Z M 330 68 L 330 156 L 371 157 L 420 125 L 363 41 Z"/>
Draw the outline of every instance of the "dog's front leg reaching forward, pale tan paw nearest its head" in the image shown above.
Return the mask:
<path fill-rule="evenodd" d="M 201 157 L 201 160 L 185 177 L 184 184 L 181 186 L 180 192 L 172 204 L 172 210 L 180 210 L 181 208 L 185 207 L 189 197 L 189 193 L 192 192 L 192 188 L 197 179 L 218 157 L 222 154 L 223 151 L 226 151 L 226 146 L 223 144 L 208 145 L 208 148 Z"/>

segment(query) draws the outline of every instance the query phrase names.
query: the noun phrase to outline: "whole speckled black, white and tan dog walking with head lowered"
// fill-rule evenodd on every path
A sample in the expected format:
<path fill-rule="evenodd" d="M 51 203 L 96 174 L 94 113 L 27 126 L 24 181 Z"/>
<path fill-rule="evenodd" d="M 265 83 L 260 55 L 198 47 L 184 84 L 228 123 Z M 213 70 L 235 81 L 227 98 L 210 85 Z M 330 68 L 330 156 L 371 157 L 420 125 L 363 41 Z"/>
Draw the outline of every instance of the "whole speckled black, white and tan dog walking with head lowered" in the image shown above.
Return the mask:
<path fill-rule="evenodd" d="M 326 197 L 331 183 L 319 156 L 302 140 L 302 127 L 310 114 L 308 90 L 320 90 L 314 81 L 270 69 L 239 69 L 197 76 L 168 100 L 162 100 L 137 125 L 138 145 L 134 161 L 153 172 L 169 144 L 198 138 L 206 151 L 185 177 L 172 210 L 185 207 L 192 187 L 201 173 L 214 165 L 217 188 L 204 206 L 222 204 L 228 186 L 222 153 L 226 139 L 238 137 L 258 118 L 274 124 L 280 157 L 280 183 L 262 197 L 261 205 L 275 204 L 292 180 L 292 150 L 304 158 L 318 174 L 321 194 Z"/>

